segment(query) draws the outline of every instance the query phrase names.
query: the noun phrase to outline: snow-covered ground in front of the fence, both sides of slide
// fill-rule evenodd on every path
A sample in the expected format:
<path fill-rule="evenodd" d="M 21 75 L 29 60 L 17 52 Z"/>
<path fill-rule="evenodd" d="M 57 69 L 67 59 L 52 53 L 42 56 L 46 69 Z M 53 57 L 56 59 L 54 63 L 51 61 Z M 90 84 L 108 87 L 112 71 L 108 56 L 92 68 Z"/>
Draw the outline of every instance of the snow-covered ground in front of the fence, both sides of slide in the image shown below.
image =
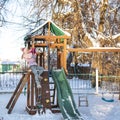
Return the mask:
<path fill-rule="evenodd" d="M 12 94 L 0 94 L 0 120 L 63 120 L 61 113 L 53 114 L 50 110 L 43 115 L 29 115 L 26 110 L 26 95 L 21 94 L 11 114 L 7 113 L 6 105 Z M 75 94 L 78 106 L 78 95 Z M 120 120 L 120 101 L 118 94 L 114 95 L 114 102 L 105 102 L 101 94 L 89 94 L 88 107 L 78 109 L 85 120 Z"/>

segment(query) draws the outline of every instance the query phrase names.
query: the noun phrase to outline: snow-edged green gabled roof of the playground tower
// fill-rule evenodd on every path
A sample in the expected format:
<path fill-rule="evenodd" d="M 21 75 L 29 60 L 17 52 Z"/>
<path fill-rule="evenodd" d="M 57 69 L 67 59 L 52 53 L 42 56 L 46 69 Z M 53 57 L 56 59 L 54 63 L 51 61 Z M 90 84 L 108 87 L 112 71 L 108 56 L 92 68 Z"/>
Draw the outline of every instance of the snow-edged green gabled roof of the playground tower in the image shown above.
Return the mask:
<path fill-rule="evenodd" d="M 45 21 L 42 25 L 37 27 L 36 29 L 32 30 L 25 38 L 24 40 L 29 39 L 29 37 L 34 36 L 34 35 L 46 35 L 49 29 L 49 23 L 50 23 L 50 32 L 55 35 L 55 36 L 70 36 L 70 33 L 67 31 L 64 31 L 60 27 L 58 27 L 54 22 L 51 20 Z"/>

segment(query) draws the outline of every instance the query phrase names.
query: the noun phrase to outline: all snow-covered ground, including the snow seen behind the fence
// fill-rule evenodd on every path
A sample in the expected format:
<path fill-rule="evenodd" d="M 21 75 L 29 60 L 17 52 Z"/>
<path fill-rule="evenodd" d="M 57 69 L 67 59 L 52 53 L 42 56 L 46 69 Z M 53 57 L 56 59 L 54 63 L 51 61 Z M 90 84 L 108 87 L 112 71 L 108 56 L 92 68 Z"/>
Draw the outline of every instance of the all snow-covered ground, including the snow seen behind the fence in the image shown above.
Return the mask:
<path fill-rule="evenodd" d="M 29 115 L 25 110 L 27 95 L 25 95 L 24 92 L 18 98 L 12 113 L 8 114 L 6 105 L 12 96 L 10 91 L 14 91 L 15 86 L 18 84 L 19 77 L 20 76 L 18 76 L 17 80 L 14 80 L 12 77 L 10 77 L 10 80 L 0 78 L 0 120 L 64 120 L 61 113 L 53 114 L 50 110 L 46 110 L 46 113 L 42 115 L 39 115 L 38 113 L 36 115 Z M 118 94 L 114 95 L 114 102 L 105 102 L 101 99 L 102 94 L 94 94 L 95 89 L 91 89 L 90 81 L 87 81 L 86 83 L 82 80 L 80 81 L 78 79 L 73 79 L 70 80 L 70 85 L 72 90 L 75 86 L 80 85 L 79 90 L 73 90 L 75 93 L 73 95 L 78 110 L 84 120 L 120 120 L 120 100 L 118 100 Z M 85 90 L 85 88 L 87 89 Z M 9 93 L 4 93 L 8 91 Z M 87 93 L 88 107 L 78 106 L 78 98 L 81 95 L 76 94 L 78 92 Z M 109 95 L 107 98 L 110 99 L 111 94 L 107 95 Z"/>

